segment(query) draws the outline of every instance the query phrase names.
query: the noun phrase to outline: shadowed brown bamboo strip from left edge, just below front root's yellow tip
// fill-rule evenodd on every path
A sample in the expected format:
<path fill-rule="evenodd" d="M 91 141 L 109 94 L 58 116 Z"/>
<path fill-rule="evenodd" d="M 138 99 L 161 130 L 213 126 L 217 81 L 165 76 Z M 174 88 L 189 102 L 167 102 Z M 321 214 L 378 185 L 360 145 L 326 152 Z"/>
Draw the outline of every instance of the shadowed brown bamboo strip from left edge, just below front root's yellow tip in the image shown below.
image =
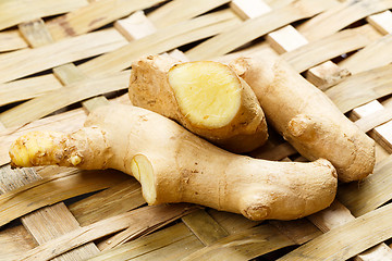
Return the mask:
<path fill-rule="evenodd" d="M 0 196 L 0 226 L 45 206 L 97 191 L 126 178 L 128 176 L 114 171 L 103 173 L 72 170 L 16 188 Z"/>

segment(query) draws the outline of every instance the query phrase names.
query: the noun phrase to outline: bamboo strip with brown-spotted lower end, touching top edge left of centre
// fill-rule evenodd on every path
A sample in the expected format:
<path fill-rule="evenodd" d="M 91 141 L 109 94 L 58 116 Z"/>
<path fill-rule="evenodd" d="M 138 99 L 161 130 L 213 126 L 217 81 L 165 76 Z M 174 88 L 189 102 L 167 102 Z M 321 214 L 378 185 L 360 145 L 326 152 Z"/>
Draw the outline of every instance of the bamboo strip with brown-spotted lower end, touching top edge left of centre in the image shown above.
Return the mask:
<path fill-rule="evenodd" d="M 82 35 L 163 0 L 100 0 L 48 22 L 56 40 Z"/>

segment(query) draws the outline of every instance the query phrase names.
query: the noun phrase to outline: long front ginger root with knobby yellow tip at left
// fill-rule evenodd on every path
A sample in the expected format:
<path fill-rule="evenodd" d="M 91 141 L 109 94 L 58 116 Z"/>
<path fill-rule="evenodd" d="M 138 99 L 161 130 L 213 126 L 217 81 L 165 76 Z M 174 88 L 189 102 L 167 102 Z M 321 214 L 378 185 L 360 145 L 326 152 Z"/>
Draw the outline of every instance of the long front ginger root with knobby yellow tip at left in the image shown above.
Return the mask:
<path fill-rule="evenodd" d="M 330 206 L 336 173 L 327 160 L 271 162 L 222 150 L 155 112 L 111 104 L 72 134 L 30 133 L 13 142 L 15 167 L 117 169 L 149 204 L 191 202 L 252 220 L 292 220 Z"/>

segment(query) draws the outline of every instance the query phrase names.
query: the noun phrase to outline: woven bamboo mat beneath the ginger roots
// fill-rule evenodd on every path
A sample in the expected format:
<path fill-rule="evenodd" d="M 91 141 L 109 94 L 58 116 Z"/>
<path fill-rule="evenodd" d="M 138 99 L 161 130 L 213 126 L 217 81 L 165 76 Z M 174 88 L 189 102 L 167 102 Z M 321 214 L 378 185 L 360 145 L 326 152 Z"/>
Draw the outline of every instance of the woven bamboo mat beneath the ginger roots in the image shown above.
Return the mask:
<path fill-rule="evenodd" d="M 0 0 L 0 260 L 392 260 L 392 0 Z M 11 170 L 33 129 L 130 103 L 131 62 L 274 52 L 377 142 L 377 165 L 306 219 L 148 207 L 117 171 Z M 273 136 L 273 135 L 272 135 Z M 303 161 L 279 137 L 250 153 Z"/>

